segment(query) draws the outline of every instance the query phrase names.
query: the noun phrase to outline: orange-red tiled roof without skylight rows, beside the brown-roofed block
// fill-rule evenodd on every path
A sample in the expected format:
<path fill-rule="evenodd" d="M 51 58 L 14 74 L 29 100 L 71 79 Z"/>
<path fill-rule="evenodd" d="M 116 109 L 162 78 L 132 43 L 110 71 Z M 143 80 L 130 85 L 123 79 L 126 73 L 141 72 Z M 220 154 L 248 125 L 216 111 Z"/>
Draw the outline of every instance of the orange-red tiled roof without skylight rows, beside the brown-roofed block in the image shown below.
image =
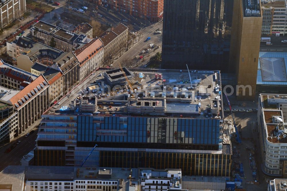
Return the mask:
<path fill-rule="evenodd" d="M 102 48 L 100 48 L 97 51 L 97 48 L 99 48 L 102 44 L 103 44 L 102 41 L 99 38 L 97 38 L 97 39 L 93 39 L 91 42 L 85 44 L 82 48 L 75 50 L 75 55 L 76 55 L 78 61 L 81 63 L 87 57 L 92 58 L 95 54 L 98 53 L 98 51 L 100 51 L 102 49 Z M 92 54 L 92 52 L 94 52 L 94 51 L 96 51 L 96 53 L 90 57 L 90 54 Z M 80 67 L 83 64 L 84 63 L 80 64 Z"/>

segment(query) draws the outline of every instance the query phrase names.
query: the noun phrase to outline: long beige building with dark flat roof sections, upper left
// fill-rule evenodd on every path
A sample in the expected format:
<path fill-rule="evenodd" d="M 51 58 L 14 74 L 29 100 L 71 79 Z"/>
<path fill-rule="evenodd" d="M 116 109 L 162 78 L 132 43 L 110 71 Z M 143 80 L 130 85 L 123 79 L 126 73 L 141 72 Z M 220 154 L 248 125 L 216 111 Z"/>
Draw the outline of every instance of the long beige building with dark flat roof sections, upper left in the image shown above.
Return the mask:
<path fill-rule="evenodd" d="M 90 42 L 84 34 L 75 34 L 55 25 L 39 21 L 32 27 L 32 36 L 42 39 L 44 44 L 70 52 L 83 43 Z"/>

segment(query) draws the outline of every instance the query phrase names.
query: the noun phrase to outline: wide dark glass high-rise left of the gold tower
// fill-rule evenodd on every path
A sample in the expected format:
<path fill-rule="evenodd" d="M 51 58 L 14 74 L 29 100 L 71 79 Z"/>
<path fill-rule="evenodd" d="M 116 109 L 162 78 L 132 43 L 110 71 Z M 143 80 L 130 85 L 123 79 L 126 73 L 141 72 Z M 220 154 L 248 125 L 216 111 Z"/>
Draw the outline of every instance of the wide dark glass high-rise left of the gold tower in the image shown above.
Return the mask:
<path fill-rule="evenodd" d="M 162 68 L 228 70 L 233 0 L 165 0 Z"/>

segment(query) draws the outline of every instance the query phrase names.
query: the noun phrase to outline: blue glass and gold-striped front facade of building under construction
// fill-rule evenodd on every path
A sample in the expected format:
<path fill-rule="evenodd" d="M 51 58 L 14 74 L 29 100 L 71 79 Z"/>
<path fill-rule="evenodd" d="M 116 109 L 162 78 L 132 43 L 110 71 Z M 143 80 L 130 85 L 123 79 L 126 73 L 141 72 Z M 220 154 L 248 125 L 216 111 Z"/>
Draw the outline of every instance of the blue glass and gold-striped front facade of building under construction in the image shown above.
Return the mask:
<path fill-rule="evenodd" d="M 35 165 L 58 164 L 54 157 L 47 159 L 46 152 L 61 150 L 65 165 L 79 166 L 97 144 L 86 166 L 181 168 L 187 175 L 230 175 L 230 147 L 222 143 L 220 119 L 42 117 Z"/>

